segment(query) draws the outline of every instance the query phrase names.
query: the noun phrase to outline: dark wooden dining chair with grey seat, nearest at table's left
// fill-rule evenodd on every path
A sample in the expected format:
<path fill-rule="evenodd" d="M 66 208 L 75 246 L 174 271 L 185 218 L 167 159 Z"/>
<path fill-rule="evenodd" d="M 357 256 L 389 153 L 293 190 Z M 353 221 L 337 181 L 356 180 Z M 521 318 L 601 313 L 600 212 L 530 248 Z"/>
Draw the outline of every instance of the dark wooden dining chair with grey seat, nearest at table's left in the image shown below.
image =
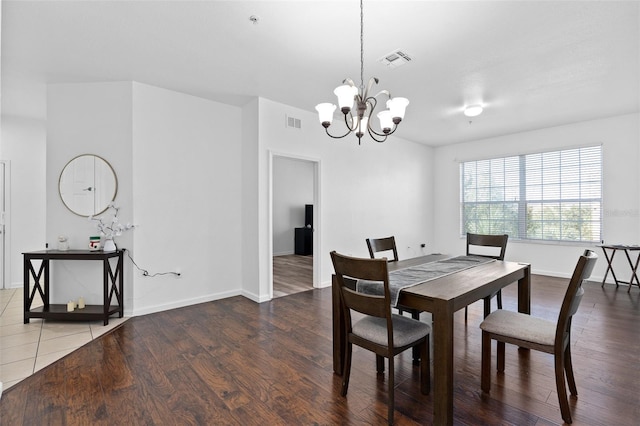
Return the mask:
<path fill-rule="evenodd" d="M 357 345 L 376 354 L 379 373 L 384 372 L 384 358 L 388 359 L 388 414 L 393 424 L 394 358 L 406 349 L 420 348 L 420 391 L 428 394 L 431 388 L 429 334 L 431 326 L 412 318 L 391 313 L 389 270 L 387 259 L 363 259 L 331 252 L 331 261 L 339 286 L 340 301 L 345 318 L 346 350 L 342 373 L 342 396 L 347 395 L 351 374 L 352 346 Z M 357 280 L 379 281 L 383 295 L 355 291 Z M 349 286 L 351 284 L 351 286 Z M 364 314 L 353 322 L 351 312 Z"/>

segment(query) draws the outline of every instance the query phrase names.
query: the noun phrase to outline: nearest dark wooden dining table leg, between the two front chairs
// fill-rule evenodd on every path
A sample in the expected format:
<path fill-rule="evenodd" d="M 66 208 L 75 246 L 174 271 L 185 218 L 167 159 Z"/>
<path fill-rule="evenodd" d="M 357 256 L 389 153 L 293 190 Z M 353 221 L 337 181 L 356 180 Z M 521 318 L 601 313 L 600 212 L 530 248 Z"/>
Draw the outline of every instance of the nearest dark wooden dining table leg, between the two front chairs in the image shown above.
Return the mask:
<path fill-rule="evenodd" d="M 433 424 L 453 425 L 453 303 L 433 309 Z"/>

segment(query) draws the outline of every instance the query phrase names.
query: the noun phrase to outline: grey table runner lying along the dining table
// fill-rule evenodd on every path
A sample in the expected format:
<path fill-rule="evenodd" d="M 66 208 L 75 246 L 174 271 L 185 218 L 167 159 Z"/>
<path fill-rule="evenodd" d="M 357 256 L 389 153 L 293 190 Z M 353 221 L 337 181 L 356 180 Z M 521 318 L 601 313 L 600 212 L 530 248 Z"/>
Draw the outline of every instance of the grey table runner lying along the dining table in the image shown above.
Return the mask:
<path fill-rule="evenodd" d="M 403 288 L 413 287 L 425 281 L 431 281 L 489 262 L 495 262 L 495 260 L 481 256 L 457 256 L 391 271 L 389 272 L 391 306 L 398 304 L 398 295 Z M 356 291 L 364 294 L 384 295 L 381 281 L 358 280 Z"/>

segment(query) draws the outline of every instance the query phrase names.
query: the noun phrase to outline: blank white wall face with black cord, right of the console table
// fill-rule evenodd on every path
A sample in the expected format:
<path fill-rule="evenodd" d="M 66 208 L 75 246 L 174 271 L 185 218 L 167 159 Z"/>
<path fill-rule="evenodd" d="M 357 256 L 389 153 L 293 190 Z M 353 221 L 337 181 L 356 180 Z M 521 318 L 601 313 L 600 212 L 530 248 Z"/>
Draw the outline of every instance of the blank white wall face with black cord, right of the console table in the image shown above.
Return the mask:
<path fill-rule="evenodd" d="M 133 88 L 134 314 L 240 294 L 240 109 Z"/>

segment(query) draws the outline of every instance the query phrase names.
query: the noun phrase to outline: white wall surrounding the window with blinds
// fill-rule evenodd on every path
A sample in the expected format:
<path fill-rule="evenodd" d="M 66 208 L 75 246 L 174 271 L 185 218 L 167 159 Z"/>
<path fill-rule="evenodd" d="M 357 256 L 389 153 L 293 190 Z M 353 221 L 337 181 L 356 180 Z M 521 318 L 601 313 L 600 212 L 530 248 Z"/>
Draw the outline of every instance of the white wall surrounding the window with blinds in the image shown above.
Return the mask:
<path fill-rule="evenodd" d="M 437 250 L 444 253 L 464 251 L 459 215 L 460 162 L 600 143 L 604 157 L 604 240 L 637 244 L 640 241 L 639 129 L 638 114 L 630 114 L 437 148 L 433 169 L 437 177 L 433 198 L 437 201 Z M 506 259 L 530 262 L 537 274 L 566 277 L 585 248 L 595 249 L 600 255 L 593 279 L 602 280 L 606 261 L 601 249 L 594 246 L 510 240 Z M 619 267 L 628 270 L 628 265 Z"/>

